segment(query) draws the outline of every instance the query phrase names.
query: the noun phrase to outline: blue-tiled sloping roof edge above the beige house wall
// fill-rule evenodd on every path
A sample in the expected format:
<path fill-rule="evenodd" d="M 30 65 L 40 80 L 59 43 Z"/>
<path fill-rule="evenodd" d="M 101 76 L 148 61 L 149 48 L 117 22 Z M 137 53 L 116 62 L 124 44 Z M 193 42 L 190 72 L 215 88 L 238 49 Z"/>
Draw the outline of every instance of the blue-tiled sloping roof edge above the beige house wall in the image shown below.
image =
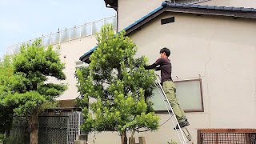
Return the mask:
<path fill-rule="evenodd" d="M 245 8 L 245 7 L 227 7 L 227 6 L 202 6 L 202 5 L 193 5 L 193 4 L 177 4 L 171 2 L 162 2 L 162 6 L 151 11 L 149 14 L 146 14 L 144 17 L 138 19 L 138 21 L 132 23 L 130 26 L 127 26 L 126 35 L 134 32 L 139 27 L 145 25 L 147 22 L 150 22 L 152 19 L 158 17 L 158 15 L 163 12 L 175 12 L 175 13 L 187 13 L 187 14 L 206 14 L 206 15 L 218 15 L 234 18 L 256 18 L 256 9 L 254 8 Z M 90 51 L 83 54 L 79 59 L 84 62 L 89 62 L 90 54 L 96 50 L 95 46 Z"/>

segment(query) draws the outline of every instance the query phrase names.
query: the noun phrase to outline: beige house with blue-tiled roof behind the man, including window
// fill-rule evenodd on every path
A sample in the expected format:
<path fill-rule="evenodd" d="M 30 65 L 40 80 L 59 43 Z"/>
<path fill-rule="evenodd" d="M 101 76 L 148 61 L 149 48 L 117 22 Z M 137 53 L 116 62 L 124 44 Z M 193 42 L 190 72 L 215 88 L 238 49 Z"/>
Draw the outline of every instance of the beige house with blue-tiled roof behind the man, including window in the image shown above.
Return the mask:
<path fill-rule="evenodd" d="M 201 128 L 256 128 L 256 10 L 241 7 L 256 7 L 254 1 L 213 0 L 201 2 L 201 6 L 146 0 L 114 2 L 110 6 L 118 3 L 118 30 L 126 30 L 138 46 L 138 54 L 153 63 L 162 47 L 170 48 L 173 79 L 178 81 L 178 98 L 189 118 L 194 142 Z M 80 59 L 88 62 L 95 49 Z M 162 124 L 169 116 L 159 99 L 154 96 Z M 166 122 L 157 132 L 136 136 L 146 137 L 150 144 L 166 143 L 170 138 L 177 141 L 173 127 Z M 91 135 L 90 141 L 93 139 Z M 120 143 L 116 133 L 96 135 L 96 143 L 106 140 Z"/>

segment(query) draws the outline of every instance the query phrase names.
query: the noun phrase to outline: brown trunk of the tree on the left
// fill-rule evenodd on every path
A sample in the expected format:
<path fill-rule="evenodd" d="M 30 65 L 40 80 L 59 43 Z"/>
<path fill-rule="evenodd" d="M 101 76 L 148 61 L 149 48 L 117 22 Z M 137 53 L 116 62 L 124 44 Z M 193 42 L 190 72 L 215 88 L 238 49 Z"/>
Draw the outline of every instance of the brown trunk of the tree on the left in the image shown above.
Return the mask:
<path fill-rule="evenodd" d="M 34 110 L 29 118 L 30 144 L 38 144 L 38 111 Z"/>

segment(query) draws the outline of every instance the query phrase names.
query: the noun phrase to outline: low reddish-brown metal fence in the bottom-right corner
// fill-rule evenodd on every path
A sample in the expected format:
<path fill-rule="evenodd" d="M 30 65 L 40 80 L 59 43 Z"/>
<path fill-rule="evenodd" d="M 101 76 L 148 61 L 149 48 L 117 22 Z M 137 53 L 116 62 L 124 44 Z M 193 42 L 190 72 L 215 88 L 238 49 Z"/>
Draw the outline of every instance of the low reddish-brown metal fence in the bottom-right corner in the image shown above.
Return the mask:
<path fill-rule="evenodd" d="M 204 129 L 198 130 L 201 144 L 256 144 L 256 129 Z"/>

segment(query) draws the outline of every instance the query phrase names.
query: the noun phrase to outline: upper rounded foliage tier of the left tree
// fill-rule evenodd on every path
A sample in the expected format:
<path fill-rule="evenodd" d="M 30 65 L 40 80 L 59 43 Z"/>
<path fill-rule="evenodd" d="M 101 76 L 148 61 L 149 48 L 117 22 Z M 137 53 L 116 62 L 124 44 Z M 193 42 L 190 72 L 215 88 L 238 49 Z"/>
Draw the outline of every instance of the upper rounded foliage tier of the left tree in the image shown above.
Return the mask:
<path fill-rule="evenodd" d="M 33 42 L 31 46 L 22 46 L 21 52 L 14 58 L 14 73 L 26 74 L 26 78 L 32 83 L 44 82 L 47 80 L 46 76 L 66 79 L 63 69 L 64 63 L 60 61 L 59 54 L 52 46 L 48 46 L 45 50 L 40 40 Z M 30 89 L 35 88 L 30 87 Z"/>

